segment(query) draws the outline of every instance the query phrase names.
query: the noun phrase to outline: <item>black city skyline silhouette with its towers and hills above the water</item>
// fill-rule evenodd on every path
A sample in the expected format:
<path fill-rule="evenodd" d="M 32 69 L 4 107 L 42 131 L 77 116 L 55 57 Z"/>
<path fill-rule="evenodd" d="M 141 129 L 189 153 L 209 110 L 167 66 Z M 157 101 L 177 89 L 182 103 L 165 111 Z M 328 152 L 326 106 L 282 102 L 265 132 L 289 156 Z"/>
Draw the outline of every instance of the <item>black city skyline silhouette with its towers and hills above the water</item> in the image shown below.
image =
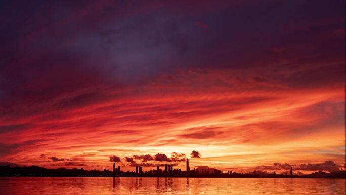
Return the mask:
<path fill-rule="evenodd" d="M 143 167 L 136 165 L 134 170 L 123 171 L 120 166 L 116 167 L 113 163 L 113 170 L 104 168 L 99 170 L 81 169 L 45 169 L 38 166 L 30 167 L 11 167 L 10 165 L 0 165 L 0 176 L 22 177 L 218 177 L 218 178 L 345 178 L 345 170 L 331 171 L 330 173 L 318 171 L 312 174 L 304 174 L 300 171 L 293 172 L 293 167 L 289 167 L 289 172 L 277 171 L 267 172 L 263 170 L 254 170 L 253 172 L 237 173 L 233 171 L 224 172 L 208 166 L 196 166 L 190 170 L 189 159 L 186 159 L 186 170 L 175 169 L 174 164 L 156 165 L 156 169 L 143 170 Z M 160 169 L 160 166 L 162 169 Z"/>

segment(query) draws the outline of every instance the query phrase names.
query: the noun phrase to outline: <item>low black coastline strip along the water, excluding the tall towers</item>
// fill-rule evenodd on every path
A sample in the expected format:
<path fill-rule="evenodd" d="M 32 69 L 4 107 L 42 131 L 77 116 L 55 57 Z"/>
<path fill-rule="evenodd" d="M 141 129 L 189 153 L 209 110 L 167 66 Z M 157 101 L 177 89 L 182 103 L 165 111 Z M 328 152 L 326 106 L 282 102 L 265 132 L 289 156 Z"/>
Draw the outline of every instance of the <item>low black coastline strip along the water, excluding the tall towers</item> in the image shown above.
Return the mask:
<path fill-rule="evenodd" d="M 253 174 L 254 173 L 254 174 Z M 177 178 L 330 178 L 330 179 L 346 179 L 346 171 L 322 172 L 318 171 L 307 175 L 283 175 L 283 174 L 256 174 L 251 173 L 223 173 L 221 171 L 215 173 L 199 173 L 191 170 L 181 171 L 174 169 L 169 172 L 159 172 L 155 170 L 145 172 L 130 172 L 109 170 L 84 170 L 81 169 L 46 169 L 39 166 L 30 167 L 10 167 L 0 166 L 0 177 L 177 177 Z"/>

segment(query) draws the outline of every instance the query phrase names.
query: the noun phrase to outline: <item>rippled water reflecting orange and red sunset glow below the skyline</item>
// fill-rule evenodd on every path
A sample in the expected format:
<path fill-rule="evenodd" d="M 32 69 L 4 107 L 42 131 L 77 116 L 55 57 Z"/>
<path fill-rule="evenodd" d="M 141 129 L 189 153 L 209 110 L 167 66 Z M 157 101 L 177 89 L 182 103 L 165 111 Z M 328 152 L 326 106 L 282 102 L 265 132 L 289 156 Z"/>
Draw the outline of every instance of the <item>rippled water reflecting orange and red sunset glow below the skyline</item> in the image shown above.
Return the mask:
<path fill-rule="evenodd" d="M 0 177 L 0 194 L 345 194 L 346 179 Z"/>

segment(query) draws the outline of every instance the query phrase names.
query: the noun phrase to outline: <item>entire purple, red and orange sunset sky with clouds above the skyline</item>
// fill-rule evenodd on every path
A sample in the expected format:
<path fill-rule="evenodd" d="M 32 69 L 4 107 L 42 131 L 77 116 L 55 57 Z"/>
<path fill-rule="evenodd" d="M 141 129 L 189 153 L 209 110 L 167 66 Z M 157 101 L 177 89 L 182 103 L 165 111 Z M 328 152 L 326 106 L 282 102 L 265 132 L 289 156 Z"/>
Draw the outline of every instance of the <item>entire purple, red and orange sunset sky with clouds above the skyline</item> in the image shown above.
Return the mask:
<path fill-rule="evenodd" d="M 345 170 L 345 1 L 3 1 L 0 20 L 0 164 Z"/>

